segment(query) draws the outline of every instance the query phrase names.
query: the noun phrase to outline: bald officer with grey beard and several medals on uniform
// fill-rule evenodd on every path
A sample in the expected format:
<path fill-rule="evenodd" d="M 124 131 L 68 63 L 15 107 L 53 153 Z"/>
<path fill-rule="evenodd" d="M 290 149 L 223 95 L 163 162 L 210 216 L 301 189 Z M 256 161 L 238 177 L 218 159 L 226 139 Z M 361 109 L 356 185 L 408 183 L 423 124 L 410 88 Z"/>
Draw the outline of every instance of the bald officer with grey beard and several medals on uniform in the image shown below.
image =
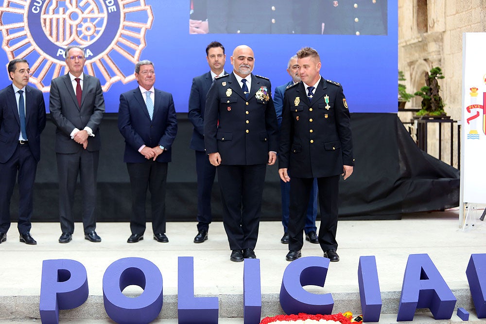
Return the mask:
<path fill-rule="evenodd" d="M 270 81 L 251 73 L 252 49 L 238 46 L 231 64 L 233 73 L 209 89 L 204 144 L 218 170 L 230 260 L 241 262 L 256 257 L 266 164 L 277 159 L 278 126 Z"/>

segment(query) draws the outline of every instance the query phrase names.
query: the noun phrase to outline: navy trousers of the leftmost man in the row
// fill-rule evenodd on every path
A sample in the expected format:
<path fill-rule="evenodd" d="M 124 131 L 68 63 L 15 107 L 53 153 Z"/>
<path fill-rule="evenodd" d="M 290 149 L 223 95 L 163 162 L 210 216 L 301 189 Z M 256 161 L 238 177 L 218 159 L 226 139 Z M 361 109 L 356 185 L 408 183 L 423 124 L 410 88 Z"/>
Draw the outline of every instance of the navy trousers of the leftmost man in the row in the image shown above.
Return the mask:
<path fill-rule="evenodd" d="M 10 200 L 14 192 L 15 179 L 18 179 L 18 222 L 17 229 L 20 234 L 29 232 L 33 210 L 33 193 L 35 160 L 29 145 L 17 144 L 12 157 L 5 163 L 0 163 L 0 232 L 7 233 L 10 228 Z"/>

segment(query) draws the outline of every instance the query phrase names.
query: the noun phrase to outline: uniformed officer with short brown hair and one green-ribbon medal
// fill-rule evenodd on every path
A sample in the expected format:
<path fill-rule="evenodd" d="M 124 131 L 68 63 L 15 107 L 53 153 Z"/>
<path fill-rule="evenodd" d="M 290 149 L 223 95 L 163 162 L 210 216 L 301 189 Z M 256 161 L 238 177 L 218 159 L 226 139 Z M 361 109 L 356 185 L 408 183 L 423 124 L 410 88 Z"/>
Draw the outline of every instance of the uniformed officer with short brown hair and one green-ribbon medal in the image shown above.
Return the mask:
<path fill-rule="evenodd" d="M 336 253 L 339 174 L 353 172 L 350 115 L 343 87 L 324 80 L 319 54 L 312 48 L 297 52 L 301 82 L 285 90 L 278 173 L 290 181 L 289 253 L 301 256 L 305 211 L 313 178 L 317 178 L 321 224 L 319 244 L 324 256 L 339 261 Z M 290 178 L 292 175 L 292 180 Z"/>

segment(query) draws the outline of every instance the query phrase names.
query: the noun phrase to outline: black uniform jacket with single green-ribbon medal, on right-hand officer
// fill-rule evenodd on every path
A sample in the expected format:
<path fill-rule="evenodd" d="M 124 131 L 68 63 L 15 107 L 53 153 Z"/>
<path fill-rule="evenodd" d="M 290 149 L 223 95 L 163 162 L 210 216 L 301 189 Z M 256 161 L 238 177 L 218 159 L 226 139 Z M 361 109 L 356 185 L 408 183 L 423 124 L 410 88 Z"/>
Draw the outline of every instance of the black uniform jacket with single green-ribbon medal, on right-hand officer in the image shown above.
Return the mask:
<path fill-rule="evenodd" d="M 312 102 L 302 82 L 285 90 L 278 168 L 299 178 L 338 175 L 343 164 L 354 165 L 352 148 L 349 109 L 340 84 L 321 78 Z"/>

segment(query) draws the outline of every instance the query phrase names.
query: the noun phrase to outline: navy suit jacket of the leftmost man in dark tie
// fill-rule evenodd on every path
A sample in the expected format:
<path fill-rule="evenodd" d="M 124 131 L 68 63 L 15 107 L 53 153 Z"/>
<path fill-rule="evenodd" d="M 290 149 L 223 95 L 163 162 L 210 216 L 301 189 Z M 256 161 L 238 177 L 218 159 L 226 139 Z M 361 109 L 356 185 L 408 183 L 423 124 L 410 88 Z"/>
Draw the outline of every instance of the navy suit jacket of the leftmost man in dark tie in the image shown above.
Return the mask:
<path fill-rule="evenodd" d="M 40 133 L 46 126 L 46 105 L 42 92 L 29 85 L 25 86 L 25 131 L 29 148 L 35 160 L 40 160 Z M 20 119 L 17 98 L 12 85 L 0 91 L 0 163 L 7 162 L 14 154 Z"/>

